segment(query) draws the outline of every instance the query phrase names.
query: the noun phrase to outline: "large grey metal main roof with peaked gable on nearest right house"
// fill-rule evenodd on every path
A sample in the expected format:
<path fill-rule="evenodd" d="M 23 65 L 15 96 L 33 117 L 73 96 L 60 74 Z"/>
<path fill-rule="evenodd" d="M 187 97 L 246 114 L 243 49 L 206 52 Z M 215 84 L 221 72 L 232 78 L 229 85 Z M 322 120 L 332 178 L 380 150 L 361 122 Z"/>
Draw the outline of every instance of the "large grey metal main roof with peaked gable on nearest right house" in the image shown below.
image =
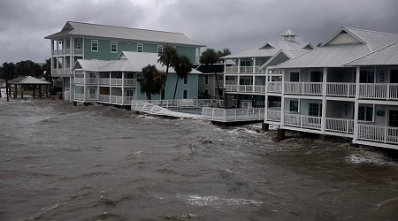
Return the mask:
<path fill-rule="evenodd" d="M 350 34 L 357 42 L 348 40 L 338 44 L 334 41 L 339 34 Z M 345 36 L 347 37 L 347 36 Z M 345 38 L 347 39 L 347 38 Z M 288 60 L 275 68 L 306 68 L 306 67 L 341 67 L 358 57 L 363 57 L 378 50 L 392 42 L 398 41 L 398 34 L 380 33 L 356 29 L 352 27 L 342 27 L 339 32 L 333 34 L 324 45 L 315 50 L 310 50 L 302 56 Z M 331 43 L 333 42 L 333 43 Z"/>

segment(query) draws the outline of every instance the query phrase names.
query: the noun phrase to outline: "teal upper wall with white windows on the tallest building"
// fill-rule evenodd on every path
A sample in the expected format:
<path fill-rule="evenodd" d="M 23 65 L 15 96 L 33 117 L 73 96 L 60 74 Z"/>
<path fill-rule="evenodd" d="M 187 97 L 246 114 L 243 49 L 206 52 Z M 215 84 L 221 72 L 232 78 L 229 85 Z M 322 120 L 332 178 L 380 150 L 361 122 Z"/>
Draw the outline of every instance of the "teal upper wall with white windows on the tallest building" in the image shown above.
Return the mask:
<path fill-rule="evenodd" d="M 91 51 L 91 40 L 98 41 L 98 51 Z M 118 42 L 118 52 L 111 53 L 111 42 Z M 119 57 L 120 53 L 125 51 L 137 51 L 137 43 L 139 42 L 120 42 L 113 40 L 99 40 L 95 38 L 84 39 L 84 59 L 98 59 L 98 60 L 115 60 Z M 143 52 L 157 53 L 157 45 L 163 45 L 165 43 L 148 43 L 142 42 Z M 176 46 L 177 52 L 180 56 L 187 56 L 193 64 L 195 64 L 195 52 L 194 47 L 188 46 Z"/>

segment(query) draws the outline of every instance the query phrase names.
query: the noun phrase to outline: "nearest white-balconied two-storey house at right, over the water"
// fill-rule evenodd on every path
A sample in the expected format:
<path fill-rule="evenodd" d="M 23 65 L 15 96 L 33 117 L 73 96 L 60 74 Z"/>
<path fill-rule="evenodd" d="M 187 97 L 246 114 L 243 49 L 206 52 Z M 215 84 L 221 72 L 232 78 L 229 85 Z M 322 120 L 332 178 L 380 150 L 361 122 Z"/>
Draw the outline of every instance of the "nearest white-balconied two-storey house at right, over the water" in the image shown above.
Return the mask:
<path fill-rule="evenodd" d="M 265 123 L 398 149 L 398 34 L 342 27 L 322 46 L 274 68 L 280 107 Z M 272 82 L 268 82 L 272 84 Z"/>

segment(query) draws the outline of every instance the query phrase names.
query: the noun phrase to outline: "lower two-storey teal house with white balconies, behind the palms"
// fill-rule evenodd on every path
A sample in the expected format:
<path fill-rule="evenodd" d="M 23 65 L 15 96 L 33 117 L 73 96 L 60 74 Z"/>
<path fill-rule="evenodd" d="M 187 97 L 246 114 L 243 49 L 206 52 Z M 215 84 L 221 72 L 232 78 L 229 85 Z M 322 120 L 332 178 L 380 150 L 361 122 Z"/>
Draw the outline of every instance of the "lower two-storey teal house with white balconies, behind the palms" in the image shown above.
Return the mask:
<path fill-rule="evenodd" d="M 141 93 L 137 75 L 142 67 L 156 65 L 159 72 L 165 66 L 157 63 L 157 53 L 123 51 L 118 59 L 112 61 L 78 59 L 73 67 L 74 103 L 109 103 L 129 107 L 133 100 L 145 100 Z M 198 72 L 193 69 L 179 81 L 176 99 L 193 99 L 198 96 Z M 174 95 L 177 74 L 170 68 L 165 86 L 165 99 Z M 160 95 L 152 95 L 160 100 Z"/>

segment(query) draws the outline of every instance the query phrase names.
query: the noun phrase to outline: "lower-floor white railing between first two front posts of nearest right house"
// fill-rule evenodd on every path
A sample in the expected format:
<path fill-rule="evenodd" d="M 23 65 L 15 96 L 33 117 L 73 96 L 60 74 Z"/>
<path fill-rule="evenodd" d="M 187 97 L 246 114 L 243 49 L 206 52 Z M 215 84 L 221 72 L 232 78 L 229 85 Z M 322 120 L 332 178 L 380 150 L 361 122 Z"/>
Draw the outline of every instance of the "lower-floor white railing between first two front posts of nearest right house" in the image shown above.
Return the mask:
<path fill-rule="evenodd" d="M 298 126 L 300 128 L 310 128 L 317 130 L 321 128 L 321 117 L 285 113 L 283 118 L 283 124 L 287 126 Z"/>

